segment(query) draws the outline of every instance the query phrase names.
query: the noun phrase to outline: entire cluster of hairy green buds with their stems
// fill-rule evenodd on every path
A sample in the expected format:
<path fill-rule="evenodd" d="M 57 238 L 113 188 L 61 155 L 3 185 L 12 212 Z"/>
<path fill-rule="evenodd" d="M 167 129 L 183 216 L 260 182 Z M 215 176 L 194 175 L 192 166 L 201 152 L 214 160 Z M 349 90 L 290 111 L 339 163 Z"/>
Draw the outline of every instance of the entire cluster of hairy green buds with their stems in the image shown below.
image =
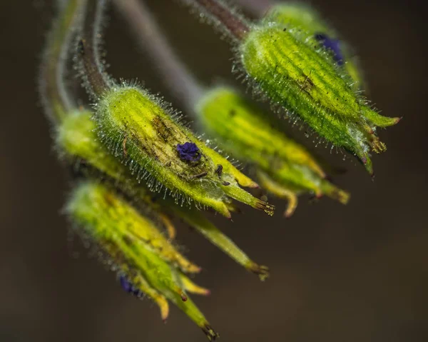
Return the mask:
<path fill-rule="evenodd" d="M 274 207 L 241 186 L 258 188 L 289 201 L 312 193 L 347 203 L 302 144 L 272 126 L 273 116 L 234 86 L 198 84 L 170 49 L 146 7 L 115 0 L 148 54 L 162 66 L 163 78 L 193 116 L 202 139 L 158 96 L 142 86 L 116 82 L 100 59 L 104 0 L 59 1 L 40 74 L 41 97 L 51 121 L 56 150 L 71 170 L 73 186 L 66 213 L 76 231 L 91 241 L 118 273 L 123 288 L 153 299 L 168 317 L 168 301 L 208 336 L 215 333 L 187 293 L 208 290 L 188 278 L 200 267 L 175 246 L 173 217 L 181 218 L 261 280 L 266 266 L 252 261 L 205 217 L 208 209 L 231 218 L 233 200 L 265 211 Z M 229 39 L 235 70 L 269 99 L 276 111 L 302 121 L 322 139 L 350 151 L 372 173 L 370 149 L 384 151 L 376 127 L 396 124 L 367 105 L 360 69 L 348 46 L 307 6 L 278 5 L 260 21 L 250 21 L 219 0 L 183 0 Z M 266 2 L 267 4 L 267 2 Z M 80 106 L 66 86 L 74 59 L 94 105 Z M 213 149 L 213 141 L 222 152 Z M 257 181 L 237 169 L 239 159 Z"/>

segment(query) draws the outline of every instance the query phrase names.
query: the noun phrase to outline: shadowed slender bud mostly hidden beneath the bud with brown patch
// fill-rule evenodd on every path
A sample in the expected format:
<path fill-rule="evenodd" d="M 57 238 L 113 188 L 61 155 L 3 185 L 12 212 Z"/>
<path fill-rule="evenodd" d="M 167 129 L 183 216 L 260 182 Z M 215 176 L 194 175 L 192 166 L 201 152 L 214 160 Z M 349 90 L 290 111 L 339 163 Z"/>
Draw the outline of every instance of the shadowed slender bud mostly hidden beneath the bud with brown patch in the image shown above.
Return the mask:
<path fill-rule="evenodd" d="M 170 222 L 169 216 L 178 216 L 240 265 L 258 274 L 262 279 L 267 278 L 267 268 L 252 261 L 233 241 L 230 241 L 213 223 L 208 221 L 203 213 L 187 206 L 179 206 L 169 196 L 165 198 L 153 196 L 146 183 L 138 183 L 131 171 L 115 159 L 106 146 L 101 144 L 96 136 L 96 124 L 91 120 L 91 116 L 90 111 L 73 111 L 64 116 L 61 125 L 58 127 L 56 146 L 58 146 L 58 150 L 62 151 L 66 159 L 74 159 L 86 166 L 91 166 L 91 168 L 84 168 L 88 172 L 88 176 L 93 176 L 92 169 L 101 171 L 113 181 L 114 185 L 134 198 L 136 202 L 145 203 L 146 206 L 152 208 L 153 212 L 158 213 L 158 217 L 167 228 L 170 238 L 175 236 L 175 228 Z M 213 154 L 213 156 L 223 159 L 223 157 L 218 157 L 218 154 Z M 220 162 L 225 167 L 230 167 L 230 162 L 227 159 Z M 240 176 L 239 171 L 235 170 L 232 169 L 233 172 L 238 172 L 237 177 Z M 228 205 L 229 210 L 233 209 L 229 203 L 226 205 Z"/>

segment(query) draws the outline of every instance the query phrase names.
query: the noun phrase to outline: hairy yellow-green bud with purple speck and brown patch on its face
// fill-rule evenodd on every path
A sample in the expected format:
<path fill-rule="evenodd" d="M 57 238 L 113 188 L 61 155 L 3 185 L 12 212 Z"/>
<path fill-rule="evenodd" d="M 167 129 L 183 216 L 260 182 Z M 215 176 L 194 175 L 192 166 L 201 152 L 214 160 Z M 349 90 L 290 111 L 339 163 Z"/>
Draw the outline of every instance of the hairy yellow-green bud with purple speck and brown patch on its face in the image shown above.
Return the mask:
<path fill-rule="evenodd" d="M 255 185 L 238 170 L 218 174 L 216 161 L 221 156 L 171 119 L 146 92 L 133 87 L 108 91 L 98 104 L 96 118 L 103 143 L 128 164 L 138 180 L 149 178 L 153 191 L 165 186 L 176 201 L 195 201 L 227 217 L 229 197 L 273 213 L 272 206 L 238 186 L 240 181 Z"/>

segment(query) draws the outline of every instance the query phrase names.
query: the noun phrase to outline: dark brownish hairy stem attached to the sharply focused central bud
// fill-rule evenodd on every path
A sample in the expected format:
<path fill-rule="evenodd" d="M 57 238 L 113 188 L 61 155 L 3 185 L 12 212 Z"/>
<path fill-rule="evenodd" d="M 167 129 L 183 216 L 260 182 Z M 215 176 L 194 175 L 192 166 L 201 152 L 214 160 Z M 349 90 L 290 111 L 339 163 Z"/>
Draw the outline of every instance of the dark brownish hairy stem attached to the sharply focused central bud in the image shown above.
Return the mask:
<path fill-rule="evenodd" d="M 102 96 L 111 88 L 98 52 L 102 14 L 105 6 L 105 0 L 86 1 L 81 36 L 78 40 L 78 55 L 83 66 L 83 81 L 94 97 Z"/>

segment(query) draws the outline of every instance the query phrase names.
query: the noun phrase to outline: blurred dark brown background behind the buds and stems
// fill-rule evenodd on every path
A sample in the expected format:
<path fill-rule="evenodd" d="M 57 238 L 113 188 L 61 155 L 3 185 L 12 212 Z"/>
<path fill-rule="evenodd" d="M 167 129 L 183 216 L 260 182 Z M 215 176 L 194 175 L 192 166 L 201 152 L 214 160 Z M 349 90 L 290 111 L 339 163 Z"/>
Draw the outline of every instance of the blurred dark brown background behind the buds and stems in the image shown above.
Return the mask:
<path fill-rule="evenodd" d="M 230 79 L 229 46 L 209 26 L 174 1 L 148 3 L 200 79 Z M 213 291 L 195 300 L 221 341 L 428 341 L 427 9 L 408 0 L 312 3 L 357 49 L 370 99 L 404 119 L 380 132 L 388 151 L 374 156 L 374 182 L 352 159 L 317 149 L 348 169 L 336 177 L 352 193 L 348 206 L 303 197 L 290 220 L 282 201 L 274 218 L 248 208 L 234 223 L 215 218 L 270 266 L 265 283 L 180 226 L 180 243 L 205 268 L 198 282 Z M 175 308 L 164 325 L 68 234 L 59 213 L 68 185 L 36 91 L 51 4 L 0 4 L 0 341 L 205 341 Z M 111 74 L 143 79 L 168 99 L 123 19 L 109 13 Z"/>

